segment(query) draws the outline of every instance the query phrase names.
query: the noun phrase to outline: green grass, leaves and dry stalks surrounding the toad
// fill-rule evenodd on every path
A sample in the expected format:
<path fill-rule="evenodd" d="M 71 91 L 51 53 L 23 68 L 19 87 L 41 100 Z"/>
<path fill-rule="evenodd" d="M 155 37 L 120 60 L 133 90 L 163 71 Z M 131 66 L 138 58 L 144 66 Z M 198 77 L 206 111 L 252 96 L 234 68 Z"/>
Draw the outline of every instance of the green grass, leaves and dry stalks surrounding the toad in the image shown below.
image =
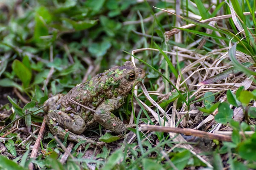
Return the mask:
<path fill-rule="evenodd" d="M 256 169 L 256 2 L 214 2 L 0 3 L 0 169 Z M 136 128 L 56 139 L 44 101 L 126 60 L 146 71 L 116 112 Z"/>

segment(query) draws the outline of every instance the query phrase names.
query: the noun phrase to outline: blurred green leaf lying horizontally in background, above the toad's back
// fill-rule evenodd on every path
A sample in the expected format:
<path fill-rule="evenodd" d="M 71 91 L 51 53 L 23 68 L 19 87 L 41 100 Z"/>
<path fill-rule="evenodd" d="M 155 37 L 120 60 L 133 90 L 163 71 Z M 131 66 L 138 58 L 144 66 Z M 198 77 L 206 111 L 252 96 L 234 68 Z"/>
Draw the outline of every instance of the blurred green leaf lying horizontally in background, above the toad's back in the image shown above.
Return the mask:
<path fill-rule="evenodd" d="M 98 20 L 84 20 L 84 21 L 76 22 L 74 20 L 71 20 L 69 18 L 64 18 L 64 17 L 62 17 L 61 20 L 64 20 L 67 23 L 71 24 L 76 31 L 81 31 L 81 30 L 90 28 L 90 27 L 96 25 L 96 23 L 98 21 Z"/>

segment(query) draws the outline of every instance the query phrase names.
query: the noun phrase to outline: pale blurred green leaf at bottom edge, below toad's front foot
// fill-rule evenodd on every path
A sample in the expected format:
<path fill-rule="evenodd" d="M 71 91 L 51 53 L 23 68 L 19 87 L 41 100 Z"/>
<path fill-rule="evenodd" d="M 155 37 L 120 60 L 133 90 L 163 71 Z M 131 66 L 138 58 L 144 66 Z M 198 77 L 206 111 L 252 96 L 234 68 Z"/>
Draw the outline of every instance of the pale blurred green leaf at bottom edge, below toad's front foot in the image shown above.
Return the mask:
<path fill-rule="evenodd" d="M 122 152 L 122 149 L 116 150 L 110 157 L 108 157 L 108 161 L 105 166 L 102 167 L 102 170 L 112 170 L 113 167 L 123 159 L 123 157 L 124 153 Z"/>

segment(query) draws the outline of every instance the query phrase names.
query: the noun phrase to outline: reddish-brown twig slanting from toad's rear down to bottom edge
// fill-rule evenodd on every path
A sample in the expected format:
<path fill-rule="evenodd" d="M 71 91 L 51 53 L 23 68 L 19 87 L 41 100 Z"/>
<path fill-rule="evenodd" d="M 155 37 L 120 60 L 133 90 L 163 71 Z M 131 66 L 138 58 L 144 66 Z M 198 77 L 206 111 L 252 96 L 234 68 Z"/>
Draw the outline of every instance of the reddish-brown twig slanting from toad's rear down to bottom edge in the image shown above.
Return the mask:
<path fill-rule="evenodd" d="M 43 120 L 43 123 L 41 125 L 41 128 L 40 128 L 40 131 L 38 133 L 38 138 L 36 139 L 35 141 L 35 145 L 33 147 L 33 150 L 31 152 L 31 156 L 30 158 L 35 158 L 37 157 L 37 154 L 38 154 L 38 147 L 40 146 L 40 142 L 41 142 L 41 139 L 43 138 L 44 136 L 44 130 L 45 130 L 45 117 L 44 117 L 44 120 Z M 29 170 L 33 170 L 34 169 L 34 164 L 33 163 L 30 163 L 29 164 Z"/>

